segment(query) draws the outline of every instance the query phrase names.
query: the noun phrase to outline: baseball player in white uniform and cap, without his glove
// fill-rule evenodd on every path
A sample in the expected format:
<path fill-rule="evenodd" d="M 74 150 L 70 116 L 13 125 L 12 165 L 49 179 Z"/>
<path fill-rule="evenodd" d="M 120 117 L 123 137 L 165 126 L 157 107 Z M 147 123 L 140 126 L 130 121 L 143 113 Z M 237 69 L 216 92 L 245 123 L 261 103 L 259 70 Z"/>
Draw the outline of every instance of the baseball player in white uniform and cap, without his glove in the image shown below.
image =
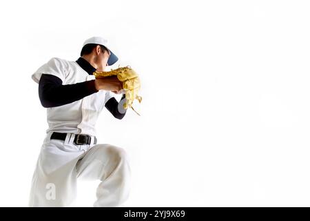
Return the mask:
<path fill-rule="evenodd" d="M 123 148 L 97 144 L 96 120 L 103 108 L 117 119 L 125 116 L 125 95 L 114 77 L 95 79 L 118 57 L 102 37 L 87 39 L 77 61 L 52 58 L 32 79 L 47 110 L 48 130 L 32 177 L 29 206 L 70 206 L 76 180 L 101 180 L 94 206 L 122 206 L 130 192 L 130 164 Z M 90 193 L 92 193 L 90 191 Z"/>

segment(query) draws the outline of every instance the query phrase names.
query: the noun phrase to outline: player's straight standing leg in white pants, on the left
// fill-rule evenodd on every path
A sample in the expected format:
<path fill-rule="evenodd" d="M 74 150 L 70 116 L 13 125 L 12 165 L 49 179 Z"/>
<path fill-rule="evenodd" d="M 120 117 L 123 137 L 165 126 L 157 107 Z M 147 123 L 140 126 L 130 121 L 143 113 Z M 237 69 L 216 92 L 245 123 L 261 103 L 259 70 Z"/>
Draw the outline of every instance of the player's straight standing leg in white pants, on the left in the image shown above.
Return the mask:
<path fill-rule="evenodd" d="M 83 151 L 61 140 L 43 144 L 32 177 L 29 206 L 70 206 L 76 197 L 76 163 Z"/>

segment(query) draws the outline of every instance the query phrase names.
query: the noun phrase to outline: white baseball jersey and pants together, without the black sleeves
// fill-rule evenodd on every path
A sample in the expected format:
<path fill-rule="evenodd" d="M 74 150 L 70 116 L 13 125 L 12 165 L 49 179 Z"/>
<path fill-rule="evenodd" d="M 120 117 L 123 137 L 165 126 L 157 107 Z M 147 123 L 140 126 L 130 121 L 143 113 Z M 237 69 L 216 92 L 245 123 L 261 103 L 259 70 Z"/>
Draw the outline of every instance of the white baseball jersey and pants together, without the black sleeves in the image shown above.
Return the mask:
<path fill-rule="evenodd" d="M 52 58 L 32 75 L 54 75 L 63 85 L 94 80 L 76 61 Z M 101 180 L 94 206 L 122 206 L 130 193 L 130 163 L 123 148 L 94 144 L 95 124 L 106 102 L 113 97 L 99 90 L 69 104 L 47 108 L 48 130 L 32 178 L 29 206 L 70 206 L 76 197 L 78 177 Z M 65 140 L 50 139 L 67 133 Z M 90 144 L 74 143 L 74 135 L 92 137 Z M 91 190 L 90 194 L 92 194 Z"/>

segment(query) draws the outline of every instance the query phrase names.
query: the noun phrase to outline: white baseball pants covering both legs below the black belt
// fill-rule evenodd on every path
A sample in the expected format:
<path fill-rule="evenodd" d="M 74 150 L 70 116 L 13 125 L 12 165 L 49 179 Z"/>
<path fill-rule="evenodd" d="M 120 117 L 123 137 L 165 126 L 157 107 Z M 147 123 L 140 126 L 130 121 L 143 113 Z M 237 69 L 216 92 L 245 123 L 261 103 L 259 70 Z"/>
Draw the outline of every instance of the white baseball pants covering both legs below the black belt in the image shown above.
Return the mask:
<path fill-rule="evenodd" d="M 130 193 L 130 163 L 123 148 L 93 141 L 76 145 L 70 133 L 65 141 L 50 140 L 51 135 L 41 146 L 29 206 L 70 206 L 78 177 L 101 180 L 94 206 L 123 206 Z"/>

